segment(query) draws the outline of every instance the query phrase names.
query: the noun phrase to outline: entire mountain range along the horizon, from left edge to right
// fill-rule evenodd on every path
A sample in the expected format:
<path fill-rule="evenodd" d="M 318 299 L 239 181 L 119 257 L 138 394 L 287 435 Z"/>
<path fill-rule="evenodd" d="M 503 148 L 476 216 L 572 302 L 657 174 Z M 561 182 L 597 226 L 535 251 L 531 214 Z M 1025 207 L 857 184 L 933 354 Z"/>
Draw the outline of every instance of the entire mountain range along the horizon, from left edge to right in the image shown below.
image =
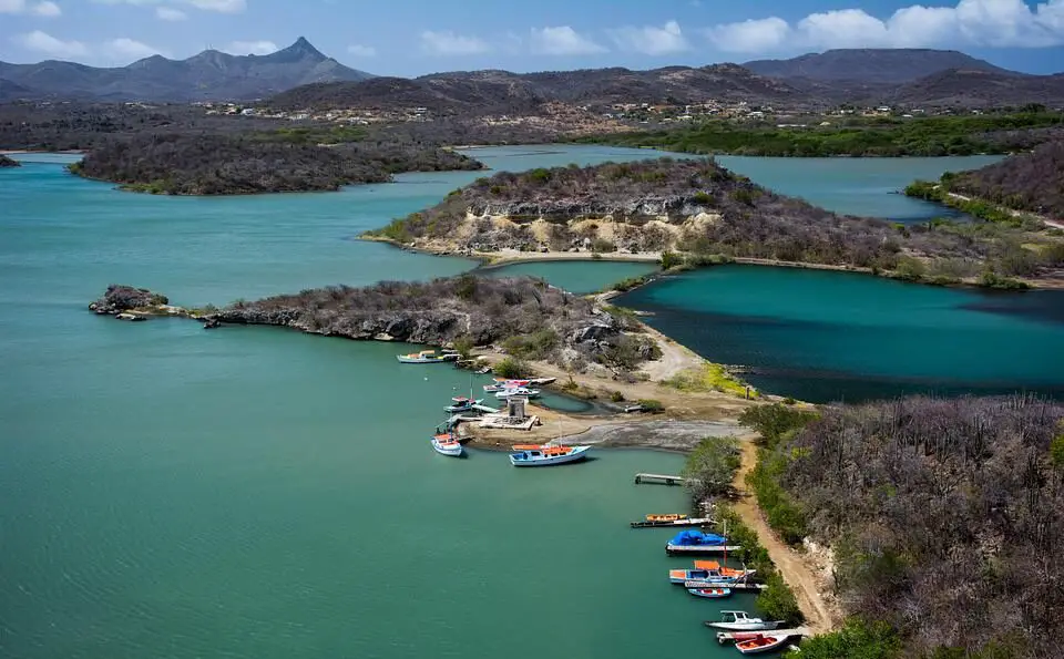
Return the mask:
<path fill-rule="evenodd" d="M 540 73 L 457 71 L 415 79 L 375 76 L 326 56 L 306 39 L 268 55 L 214 50 L 187 60 L 155 55 L 129 66 L 0 62 L 0 101 L 81 99 L 188 102 L 270 99 L 279 109 L 410 107 L 525 112 L 544 102 L 724 102 L 818 109 L 838 103 L 986 106 L 1064 104 L 1064 74 L 1029 75 L 958 51 L 848 49 L 789 60 Z"/>

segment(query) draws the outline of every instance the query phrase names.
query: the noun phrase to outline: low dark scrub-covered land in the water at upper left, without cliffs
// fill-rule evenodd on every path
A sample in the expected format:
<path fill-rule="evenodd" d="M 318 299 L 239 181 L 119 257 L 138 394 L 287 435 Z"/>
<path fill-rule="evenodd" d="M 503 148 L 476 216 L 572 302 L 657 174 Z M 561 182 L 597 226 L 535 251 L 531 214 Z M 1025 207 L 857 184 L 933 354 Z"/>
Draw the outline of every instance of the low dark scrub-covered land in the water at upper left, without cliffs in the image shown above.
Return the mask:
<path fill-rule="evenodd" d="M 399 172 L 481 169 L 453 151 L 417 144 L 284 141 L 280 134 L 151 134 L 110 140 L 70 171 L 122 189 L 166 195 L 336 191 Z"/>

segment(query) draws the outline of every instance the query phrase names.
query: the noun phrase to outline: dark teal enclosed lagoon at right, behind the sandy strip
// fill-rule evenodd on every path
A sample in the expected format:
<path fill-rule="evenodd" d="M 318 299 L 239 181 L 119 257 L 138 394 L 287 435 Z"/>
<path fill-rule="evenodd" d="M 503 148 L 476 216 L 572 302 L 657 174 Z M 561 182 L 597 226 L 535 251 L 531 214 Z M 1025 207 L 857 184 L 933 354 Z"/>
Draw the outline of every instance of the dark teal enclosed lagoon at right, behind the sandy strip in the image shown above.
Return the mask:
<path fill-rule="evenodd" d="M 1064 397 L 1064 291 L 947 289 L 864 275 L 723 266 L 617 303 L 766 391 L 810 401 L 1029 390 Z"/>

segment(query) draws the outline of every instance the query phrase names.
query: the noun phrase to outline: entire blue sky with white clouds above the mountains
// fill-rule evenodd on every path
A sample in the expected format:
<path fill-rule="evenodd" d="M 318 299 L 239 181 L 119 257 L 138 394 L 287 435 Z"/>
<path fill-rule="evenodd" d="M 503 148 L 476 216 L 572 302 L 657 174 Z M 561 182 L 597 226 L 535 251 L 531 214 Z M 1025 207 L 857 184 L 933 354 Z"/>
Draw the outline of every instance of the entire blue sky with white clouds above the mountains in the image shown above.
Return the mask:
<path fill-rule="evenodd" d="M 648 69 L 831 48 L 952 48 L 1064 70 L 1064 0 L 0 0 L 0 60 L 124 65 L 306 37 L 377 74 Z"/>

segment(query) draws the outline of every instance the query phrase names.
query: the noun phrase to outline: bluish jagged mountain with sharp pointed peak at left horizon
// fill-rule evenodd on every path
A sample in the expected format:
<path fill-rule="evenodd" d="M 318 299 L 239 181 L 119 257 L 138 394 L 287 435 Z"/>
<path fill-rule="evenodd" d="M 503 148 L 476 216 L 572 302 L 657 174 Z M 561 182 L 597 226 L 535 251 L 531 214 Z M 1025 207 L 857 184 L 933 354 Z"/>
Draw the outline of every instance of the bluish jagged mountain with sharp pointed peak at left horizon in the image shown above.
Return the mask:
<path fill-rule="evenodd" d="M 371 78 L 327 58 L 299 38 L 268 55 L 203 51 L 187 60 L 153 55 L 127 66 L 100 69 L 49 60 L 38 64 L 0 62 L 0 102 L 18 99 L 95 101 L 250 100 L 316 82 Z"/>

